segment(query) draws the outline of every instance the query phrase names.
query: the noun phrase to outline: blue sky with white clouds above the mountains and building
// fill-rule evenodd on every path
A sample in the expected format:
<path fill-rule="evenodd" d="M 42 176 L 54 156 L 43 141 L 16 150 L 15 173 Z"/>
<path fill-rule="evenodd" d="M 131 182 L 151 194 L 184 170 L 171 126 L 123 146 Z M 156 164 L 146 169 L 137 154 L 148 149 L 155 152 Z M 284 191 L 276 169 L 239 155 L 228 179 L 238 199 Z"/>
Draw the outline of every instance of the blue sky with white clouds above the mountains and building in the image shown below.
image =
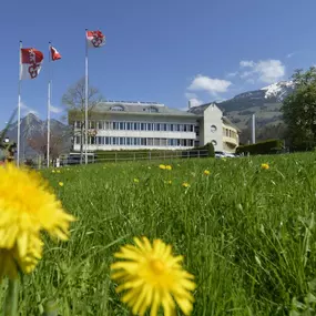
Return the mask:
<path fill-rule="evenodd" d="M 183 109 L 288 79 L 316 63 L 315 0 L 11 0 L 1 3 L 0 128 L 18 103 L 19 40 L 45 54 L 22 82 L 22 114 L 47 115 L 48 42 L 53 116 L 62 94 L 84 75 L 84 29 L 106 45 L 90 50 L 90 82 L 109 100 L 156 101 Z"/>

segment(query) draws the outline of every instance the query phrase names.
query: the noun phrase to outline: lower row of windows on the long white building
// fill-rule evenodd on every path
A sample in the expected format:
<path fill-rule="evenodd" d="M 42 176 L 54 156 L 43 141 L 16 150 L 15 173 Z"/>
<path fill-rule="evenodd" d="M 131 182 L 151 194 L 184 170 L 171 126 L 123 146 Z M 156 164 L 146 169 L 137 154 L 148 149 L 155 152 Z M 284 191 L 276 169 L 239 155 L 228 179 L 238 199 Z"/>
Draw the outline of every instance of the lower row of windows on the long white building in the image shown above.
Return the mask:
<path fill-rule="evenodd" d="M 75 136 L 75 144 L 80 144 L 80 136 Z M 184 146 L 197 145 L 194 140 L 152 139 L 152 137 L 108 137 L 90 136 L 90 145 L 126 145 L 126 146 Z"/>

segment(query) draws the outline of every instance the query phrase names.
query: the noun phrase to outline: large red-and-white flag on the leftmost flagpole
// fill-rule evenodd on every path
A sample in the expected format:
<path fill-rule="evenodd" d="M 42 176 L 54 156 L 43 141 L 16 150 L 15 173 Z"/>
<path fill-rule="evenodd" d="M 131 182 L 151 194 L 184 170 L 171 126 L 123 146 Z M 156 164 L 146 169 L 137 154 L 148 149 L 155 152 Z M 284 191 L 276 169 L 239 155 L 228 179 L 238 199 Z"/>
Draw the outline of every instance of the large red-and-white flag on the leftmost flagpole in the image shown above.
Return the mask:
<path fill-rule="evenodd" d="M 35 79 L 40 73 L 43 59 L 43 53 L 33 48 L 21 49 L 20 80 Z"/>

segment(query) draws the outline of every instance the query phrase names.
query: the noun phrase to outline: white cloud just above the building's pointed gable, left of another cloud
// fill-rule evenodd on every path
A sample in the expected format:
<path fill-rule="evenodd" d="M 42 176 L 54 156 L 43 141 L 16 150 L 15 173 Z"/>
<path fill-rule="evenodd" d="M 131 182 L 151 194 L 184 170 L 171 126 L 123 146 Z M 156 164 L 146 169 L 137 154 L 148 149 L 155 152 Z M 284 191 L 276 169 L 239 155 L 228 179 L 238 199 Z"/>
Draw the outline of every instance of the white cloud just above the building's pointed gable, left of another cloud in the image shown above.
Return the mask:
<path fill-rule="evenodd" d="M 191 91 L 207 91 L 210 94 L 226 92 L 231 81 L 222 79 L 213 79 L 206 75 L 197 74 L 191 85 L 187 88 Z"/>

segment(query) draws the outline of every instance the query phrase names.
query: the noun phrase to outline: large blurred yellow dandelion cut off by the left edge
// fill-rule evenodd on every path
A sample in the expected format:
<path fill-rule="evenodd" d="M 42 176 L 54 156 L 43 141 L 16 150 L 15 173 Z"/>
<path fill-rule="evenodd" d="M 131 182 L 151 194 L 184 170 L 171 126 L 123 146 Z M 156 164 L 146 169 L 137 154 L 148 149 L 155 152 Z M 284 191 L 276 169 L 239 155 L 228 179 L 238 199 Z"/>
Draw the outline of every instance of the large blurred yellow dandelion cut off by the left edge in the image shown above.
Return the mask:
<path fill-rule="evenodd" d="M 8 164 L 0 169 L 0 179 L 1 278 L 14 277 L 17 264 L 30 273 L 41 258 L 41 231 L 65 241 L 74 217 L 62 210 L 39 173 Z"/>

